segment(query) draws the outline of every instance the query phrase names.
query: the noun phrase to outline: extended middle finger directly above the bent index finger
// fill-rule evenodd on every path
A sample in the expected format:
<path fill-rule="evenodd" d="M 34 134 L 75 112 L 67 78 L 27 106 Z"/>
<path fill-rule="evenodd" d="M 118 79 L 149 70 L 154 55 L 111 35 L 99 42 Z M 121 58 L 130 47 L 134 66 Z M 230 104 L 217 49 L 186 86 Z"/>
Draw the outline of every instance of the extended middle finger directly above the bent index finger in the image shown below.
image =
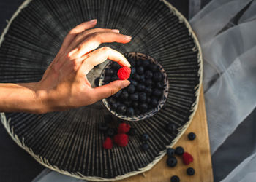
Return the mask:
<path fill-rule="evenodd" d="M 130 36 L 125 36 L 120 33 L 114 32 L 97 32 L 91 33 L 75 50 L 69 52 L 69 57 L 80 58 L 83 55 L 86 55 L 88 52 L 97 49 L 99 44 L 107 42 L 118 42 L 126 44 L 132 38 Z"/>

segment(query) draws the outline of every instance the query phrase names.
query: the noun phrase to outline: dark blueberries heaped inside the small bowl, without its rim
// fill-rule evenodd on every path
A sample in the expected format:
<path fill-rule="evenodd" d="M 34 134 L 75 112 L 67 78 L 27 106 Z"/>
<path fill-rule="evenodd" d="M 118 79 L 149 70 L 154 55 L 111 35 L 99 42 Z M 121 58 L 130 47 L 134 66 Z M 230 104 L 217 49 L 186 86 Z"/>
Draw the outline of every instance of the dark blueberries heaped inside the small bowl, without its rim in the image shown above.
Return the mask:
<path fill-rule="evenodd" d="M 162 98 L 164 75 L 157 64 L 151 60 L 127 58 L 131 64 L 128 87 L 107 99 L 110 110 L 125 116 L 138 116 L 157 107 Z M 110 63 L 105 70 L 104 84 L 118 79 L 118 63 Z"/>

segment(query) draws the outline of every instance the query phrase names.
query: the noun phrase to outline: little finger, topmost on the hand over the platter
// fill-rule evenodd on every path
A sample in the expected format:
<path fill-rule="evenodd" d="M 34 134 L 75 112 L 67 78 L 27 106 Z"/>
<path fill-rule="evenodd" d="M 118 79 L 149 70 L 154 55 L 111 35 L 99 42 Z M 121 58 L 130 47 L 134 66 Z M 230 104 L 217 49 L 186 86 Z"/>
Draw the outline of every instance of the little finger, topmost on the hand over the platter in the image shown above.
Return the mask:
<path fill-rule="evenodd" d="M 89 28 L 93 28 L 97 24 L 97 20 L 91 20 L 88 22 L 81 23 L 80 25 L 77 25 L 75 28 L 73 28 L 67 36 L 65 37 L 63 44 L 61 45 L 61 50 L 65 50 L 69 44 L 75 39 L 75 36 L 77 36 L 78 33 L 81 33 L 83 31 L 86 31 Z"/>

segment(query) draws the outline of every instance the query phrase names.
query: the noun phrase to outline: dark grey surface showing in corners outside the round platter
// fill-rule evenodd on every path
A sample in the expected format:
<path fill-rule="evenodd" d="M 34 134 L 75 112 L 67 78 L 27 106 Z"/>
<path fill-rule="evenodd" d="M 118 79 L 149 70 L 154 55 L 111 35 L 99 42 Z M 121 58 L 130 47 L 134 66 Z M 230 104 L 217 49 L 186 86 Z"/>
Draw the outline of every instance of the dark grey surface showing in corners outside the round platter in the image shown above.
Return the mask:
<path fill-rule="evenodd" d="M 185 17 L 188 16 L 189 0 L 169 0 Z M 7 25 L 23 0 L 0 1 L 0 32 Z M 26 151 L 12 141 L 3 125 L 0 124 L 0 181 L 27 182 L 33 180 L 44 167 L 39 165 Z"/>

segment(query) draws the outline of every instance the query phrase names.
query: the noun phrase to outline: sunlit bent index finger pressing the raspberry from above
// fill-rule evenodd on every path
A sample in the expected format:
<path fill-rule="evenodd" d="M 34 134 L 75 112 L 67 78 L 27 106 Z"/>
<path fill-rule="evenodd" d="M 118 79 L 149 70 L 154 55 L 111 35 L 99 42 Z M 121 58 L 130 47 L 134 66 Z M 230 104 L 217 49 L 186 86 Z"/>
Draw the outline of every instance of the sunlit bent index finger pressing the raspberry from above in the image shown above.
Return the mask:
<path fill-rule="evenodd" d="M 82 66 L 80 66 L 80 71 L 84 74 L 88 74 L 94 66 L 103 63 L 107 59 L 116 61 L 121 66 L 131 66 L 124 55 L 110 47 L 99 48 L 85 55 L 83 58 L 84 60 Z"/>

